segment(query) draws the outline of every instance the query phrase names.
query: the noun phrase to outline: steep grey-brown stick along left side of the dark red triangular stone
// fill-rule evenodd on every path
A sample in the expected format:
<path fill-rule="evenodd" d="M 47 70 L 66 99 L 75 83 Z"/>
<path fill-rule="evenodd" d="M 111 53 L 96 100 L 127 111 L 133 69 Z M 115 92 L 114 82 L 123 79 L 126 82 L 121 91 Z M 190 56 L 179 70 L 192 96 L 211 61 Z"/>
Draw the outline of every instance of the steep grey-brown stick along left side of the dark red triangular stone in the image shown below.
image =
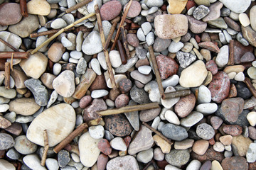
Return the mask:
<path fill-rule="evenodd" d="M 154 72 L 155 72 L 155 75 L 156 75 L 156 82 L 157 82 L 157 85 L 159 86 L 160 95 L 161 95 L 161 98 L 164 99 L 164 98 L 166 98 L 166 96 L 164 94 L 163 85 L 161 84 L 161 76 L 160 76 L 160 73 L 159 73 L 159 69 L 157 67 L 156 57 L 154 55 L 154 50 L 151 46 L 149 46 L 149 54 L 150 54 L 151 62 L 153 64 L 153 69 L 154 69 Z"/>

